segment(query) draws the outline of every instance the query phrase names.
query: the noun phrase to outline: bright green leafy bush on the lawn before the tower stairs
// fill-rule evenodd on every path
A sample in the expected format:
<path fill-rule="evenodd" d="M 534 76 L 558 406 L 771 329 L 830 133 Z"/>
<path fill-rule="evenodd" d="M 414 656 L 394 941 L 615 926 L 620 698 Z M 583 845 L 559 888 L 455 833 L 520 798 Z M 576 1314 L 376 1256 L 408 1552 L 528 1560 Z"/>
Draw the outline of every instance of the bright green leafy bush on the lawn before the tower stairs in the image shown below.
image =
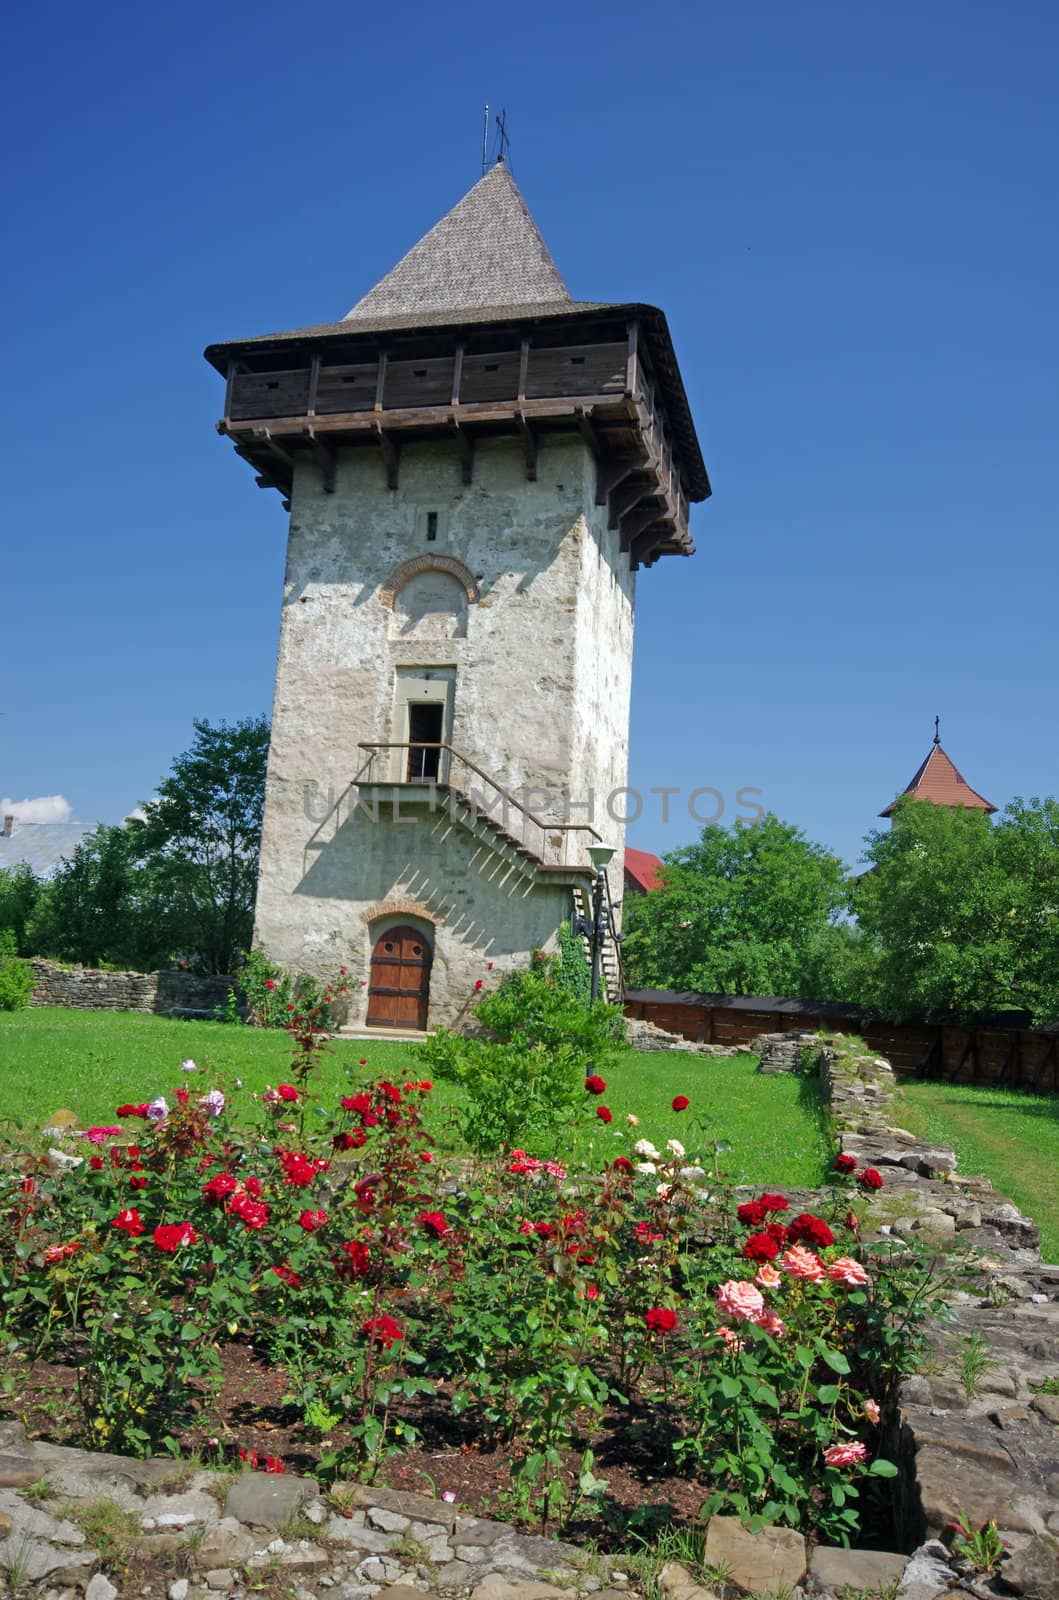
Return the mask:
<path fill-rule="evenodd" d="M 585 1078 L 613 1059 L 624 1037 L 621 1013 L 603 1002 L 585 1006 L 545 958 L 510 973 L 475 1006 L 475 1018 L 491 1038 L 438 1029 L 418 1046 L 419 1061 L 466 1090 L 459 1130 L 472 1150 L 549 1149 L 582 1107 Z"/>

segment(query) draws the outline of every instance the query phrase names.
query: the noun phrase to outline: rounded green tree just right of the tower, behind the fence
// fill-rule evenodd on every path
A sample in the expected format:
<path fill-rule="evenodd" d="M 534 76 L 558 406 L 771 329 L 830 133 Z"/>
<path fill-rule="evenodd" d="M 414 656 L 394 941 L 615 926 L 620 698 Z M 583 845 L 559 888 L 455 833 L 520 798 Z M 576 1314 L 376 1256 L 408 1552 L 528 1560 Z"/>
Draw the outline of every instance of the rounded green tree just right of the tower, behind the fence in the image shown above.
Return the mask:
<path fill-rule="evenodd" d="M 846 904 L 841 861 L 773 813 L 709 824 L 664 858 L 659 890 L 627 896 L 629 984 L 843 998 Z"/>

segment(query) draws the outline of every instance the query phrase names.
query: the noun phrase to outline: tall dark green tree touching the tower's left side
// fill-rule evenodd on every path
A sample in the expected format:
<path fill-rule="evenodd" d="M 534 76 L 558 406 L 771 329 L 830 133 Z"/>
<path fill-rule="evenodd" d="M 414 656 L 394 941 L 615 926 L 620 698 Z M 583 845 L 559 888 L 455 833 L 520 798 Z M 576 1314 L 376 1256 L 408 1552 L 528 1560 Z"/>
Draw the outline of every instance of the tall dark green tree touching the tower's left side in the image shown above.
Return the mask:
<path fill-rule="evenodd" d="M 134 829 L 189 958 L 210 973 L 232 971 L 250 947 L 267 757 L 264 717 L 195 722 L 190 750 L 173 762 Z"/>

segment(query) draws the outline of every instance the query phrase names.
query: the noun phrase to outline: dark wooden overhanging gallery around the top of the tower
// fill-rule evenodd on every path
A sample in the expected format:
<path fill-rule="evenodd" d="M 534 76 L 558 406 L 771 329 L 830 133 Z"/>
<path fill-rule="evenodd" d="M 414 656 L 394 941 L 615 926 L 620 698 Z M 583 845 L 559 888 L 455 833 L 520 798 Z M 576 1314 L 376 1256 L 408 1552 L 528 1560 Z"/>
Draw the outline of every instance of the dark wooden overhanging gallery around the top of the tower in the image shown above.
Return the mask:
<path fill-rule="evenodd" d="M 689 498 L 704 498 L 680 459 L 640 325 L 608 323 L 438 333 L 432 338 L 333 338 L 314 350 L 229 347 L 224 418 L 262 488 L 290 496 L 294 466 L 310 461 L 334 493 L 338 448 L 376 450 L 390 488 L 406 440 L 448 438 L 464 483 L 475 445 L 514 435 L 528 478 L 549 434 L 577 432 L 597 462 L 597 504 L 608 506 L 633 566 L 689 555 Z M 701 466 L 701 462 L 699 462 Z M 709 482 L 705 483 L 709 493 Z"/>

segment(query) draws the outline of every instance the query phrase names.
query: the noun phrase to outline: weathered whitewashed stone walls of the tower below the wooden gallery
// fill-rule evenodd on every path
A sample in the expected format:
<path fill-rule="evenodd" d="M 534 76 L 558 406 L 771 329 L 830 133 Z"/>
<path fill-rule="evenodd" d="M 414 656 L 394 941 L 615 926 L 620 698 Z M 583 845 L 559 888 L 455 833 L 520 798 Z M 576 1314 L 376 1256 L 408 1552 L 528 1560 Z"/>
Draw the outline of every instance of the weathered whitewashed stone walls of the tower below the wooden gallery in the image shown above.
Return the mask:
<path fill-rule="evenodd" d="M 418 574 L 394 594 L 397 570 L 422 557 L 443 558 L 448 574 Z M 478 443 L 470 485 L 448 443 L 405 445 L 397 491 L 373 451 L 341 454 L 334 494 L 315 467 L 299 467 L 256 942 L 286 966 L 347 966 L 362 995 L 352 1021 L 362 1021 L 360 984 L 382 928 L 373 918 L 400 902 L 395 920 L 435 944 L 435 1024 L 462 1011 L 477 978 L 493 981 L 547 947 L 569 914 L 568 885 L 530 888 L 442 814 L 350 814 L 358 744 L 406 736 L 394 710 L 402 667 L 454 675 L 453 746 L 506 789 L 539 790 L 539 813 L 561 821 L 565 790 L 595 795 L 595 827 L 619 846 L 619 898 L 622 827 L 606 797 L 625 784 L 633 582 L 576 437 L 542 440 L 533 483 L 518 442 L 506 438 Z M 571 821 L 589 821 L 587 811 Z"/>

